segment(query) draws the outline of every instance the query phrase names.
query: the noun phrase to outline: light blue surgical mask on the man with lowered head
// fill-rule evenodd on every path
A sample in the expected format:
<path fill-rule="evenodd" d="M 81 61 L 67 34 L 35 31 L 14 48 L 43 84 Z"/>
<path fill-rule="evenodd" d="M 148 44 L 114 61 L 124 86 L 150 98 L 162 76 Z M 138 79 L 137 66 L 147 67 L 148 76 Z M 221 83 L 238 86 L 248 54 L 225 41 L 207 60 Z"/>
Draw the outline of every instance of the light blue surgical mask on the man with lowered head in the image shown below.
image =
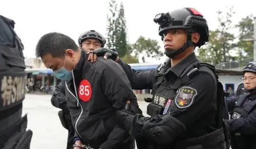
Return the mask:
<path fill-rule="evenodd" d="M 72 76 L 72 71 L 69 71 L 64 67 L 65 62 L 66 62 L 66 56 L 65 56 L 65 60 L 64 60 L 64 65 L 61 68 L 54 70 L 53 74 L 58 79 L 67 81 L 67 80 L 72 79 L 73 76 Z M 74 61 L 74 67 L 75 67 L 75 61 Z"/>

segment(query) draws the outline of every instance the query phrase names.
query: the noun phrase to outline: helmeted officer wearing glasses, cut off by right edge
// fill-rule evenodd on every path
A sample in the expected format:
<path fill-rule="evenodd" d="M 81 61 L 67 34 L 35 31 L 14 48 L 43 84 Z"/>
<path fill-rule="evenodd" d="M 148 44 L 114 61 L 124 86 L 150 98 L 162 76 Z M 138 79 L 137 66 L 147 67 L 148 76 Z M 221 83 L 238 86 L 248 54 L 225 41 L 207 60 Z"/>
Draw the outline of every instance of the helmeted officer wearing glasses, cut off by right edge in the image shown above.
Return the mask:
<path fill-rule="evenodd" d="M 249 62 L 242 70 L 247 93 L 237 96 L 229 125 L 232 149 L 256 148 L 256 62 Z"/>

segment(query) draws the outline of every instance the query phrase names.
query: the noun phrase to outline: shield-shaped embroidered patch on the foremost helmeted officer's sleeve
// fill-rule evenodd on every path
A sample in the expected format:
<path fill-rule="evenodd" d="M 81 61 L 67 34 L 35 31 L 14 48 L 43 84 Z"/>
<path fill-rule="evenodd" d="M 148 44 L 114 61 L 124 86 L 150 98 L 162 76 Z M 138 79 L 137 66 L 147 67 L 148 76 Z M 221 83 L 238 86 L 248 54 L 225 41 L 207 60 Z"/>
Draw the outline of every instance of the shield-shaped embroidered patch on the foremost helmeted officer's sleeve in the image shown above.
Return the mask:
<path fill-rule="evenodd" d="M 181 87 L 175 97 L 175 104 L 180 109 L 187 108 L 192 105 L 196 95 L 196 89 L 187 86 Z"/>

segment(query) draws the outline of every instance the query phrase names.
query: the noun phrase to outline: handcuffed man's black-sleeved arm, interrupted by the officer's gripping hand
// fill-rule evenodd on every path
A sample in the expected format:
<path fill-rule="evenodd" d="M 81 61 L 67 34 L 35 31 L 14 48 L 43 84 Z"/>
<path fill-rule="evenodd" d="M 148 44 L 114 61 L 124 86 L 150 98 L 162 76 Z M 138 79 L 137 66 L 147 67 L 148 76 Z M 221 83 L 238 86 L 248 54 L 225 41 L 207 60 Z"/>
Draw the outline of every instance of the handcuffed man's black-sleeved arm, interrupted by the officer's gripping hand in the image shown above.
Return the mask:
<path fill-rule="evenodd" d="M 110 63 L 107 62 L 103 68 L 100 80 L 105 97 L 110 101 L 112 107 L 117 110 L 123 109 L 126 101 L 131 101 L 131 105 L 137 107 L 137 99 L 126 74 L 120 65 L 112 60 L 107 61 L 110 61 Z M 129 137 L 127 131 L 116 125 L 108 139 L 100 145 L 100 148 L 120 148 L 120 145 Z"/>

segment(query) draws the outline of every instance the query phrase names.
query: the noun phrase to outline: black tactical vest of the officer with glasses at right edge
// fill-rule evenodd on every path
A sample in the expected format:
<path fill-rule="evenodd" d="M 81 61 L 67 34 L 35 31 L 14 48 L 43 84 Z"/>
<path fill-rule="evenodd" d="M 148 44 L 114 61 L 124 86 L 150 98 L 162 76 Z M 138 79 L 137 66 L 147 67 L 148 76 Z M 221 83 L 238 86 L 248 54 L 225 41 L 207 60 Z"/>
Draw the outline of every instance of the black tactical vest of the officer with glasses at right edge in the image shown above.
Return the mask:
<path fill-rule="evenodd" d="M 238 96 L 238 102 L 232 112 L 232 119 L 246 118 L 256 108 L 256 99 L 250 101 L 244 106 L 245 101 L 250 93 L 241 94 Z M 231 134 L 231 146 L 232 149 L 237 148 L 256 148 L 256 134 L 255 135 L 244 135 L 242 133 Z"/>

